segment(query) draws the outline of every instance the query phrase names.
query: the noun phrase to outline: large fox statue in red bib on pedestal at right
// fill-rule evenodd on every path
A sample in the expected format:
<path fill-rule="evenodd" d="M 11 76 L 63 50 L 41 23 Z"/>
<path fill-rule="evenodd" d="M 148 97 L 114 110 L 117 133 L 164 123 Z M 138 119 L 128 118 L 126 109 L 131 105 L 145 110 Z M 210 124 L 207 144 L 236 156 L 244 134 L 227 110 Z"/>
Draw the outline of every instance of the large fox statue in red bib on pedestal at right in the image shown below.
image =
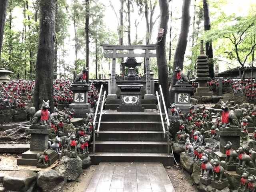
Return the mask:
<path fill-rule="evenodd" d="M 228 101 L 224 103 L 223 101 L 221 102 L 222 106 L 221 109 L 223 110 L 222 115 L 221 115 L 221 122 L 219 126 L 222 126 L 222 128 L 225 128 L 226 125 L 232 127 L 232 126 L 238 126 L 241 127 L 241 120 L 240 117 L 242 115 L 242 111 L 240 109 L 235 109 L 229 110 L 228 107 Z"/>

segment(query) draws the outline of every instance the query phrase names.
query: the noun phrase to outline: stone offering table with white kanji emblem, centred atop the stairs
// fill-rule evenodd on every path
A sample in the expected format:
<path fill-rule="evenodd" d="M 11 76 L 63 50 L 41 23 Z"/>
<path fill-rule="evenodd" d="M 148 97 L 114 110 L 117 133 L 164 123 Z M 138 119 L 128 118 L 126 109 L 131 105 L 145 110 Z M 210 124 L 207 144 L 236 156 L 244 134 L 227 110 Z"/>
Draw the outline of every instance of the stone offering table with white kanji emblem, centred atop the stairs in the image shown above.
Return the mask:
<path fill-rule="evenodd" d="M 141 111 L 144 112 L 144 107 L 141 106 L 141 88 L 143 85 L 130 84 L 130 85 L 118 85 L 120 87 L 120 106 L 116 109 L 121 111 Z"/>

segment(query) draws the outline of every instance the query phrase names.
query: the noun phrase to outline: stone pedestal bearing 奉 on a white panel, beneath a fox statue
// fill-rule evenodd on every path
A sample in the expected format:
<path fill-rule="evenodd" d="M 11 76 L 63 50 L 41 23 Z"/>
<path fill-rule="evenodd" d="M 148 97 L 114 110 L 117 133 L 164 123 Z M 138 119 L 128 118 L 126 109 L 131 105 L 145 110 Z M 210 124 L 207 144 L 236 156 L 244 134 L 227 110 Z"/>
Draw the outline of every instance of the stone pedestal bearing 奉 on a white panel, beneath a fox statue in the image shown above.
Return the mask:
<path fill-rule="evenodd" d="M 86 118 L 90 113 L 91 104 L 88 103 L 88 92 L 91 90 L 87 84 L 76 82 L 70 87 L 73 92 L 73 103 L 68 108 L 74 109 L 74 118 Z"/>

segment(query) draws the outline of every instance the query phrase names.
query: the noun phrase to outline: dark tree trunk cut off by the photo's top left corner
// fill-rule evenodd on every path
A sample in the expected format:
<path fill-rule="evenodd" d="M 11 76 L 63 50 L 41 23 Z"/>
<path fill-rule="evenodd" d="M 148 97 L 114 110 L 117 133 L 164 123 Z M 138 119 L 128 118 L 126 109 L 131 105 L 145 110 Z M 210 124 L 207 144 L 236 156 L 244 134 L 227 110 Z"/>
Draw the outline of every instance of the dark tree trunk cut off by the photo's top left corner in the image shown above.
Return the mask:
<path fill-rule="evenodd" d="M 0 0 L 0 61 L 8 0 Z"/>

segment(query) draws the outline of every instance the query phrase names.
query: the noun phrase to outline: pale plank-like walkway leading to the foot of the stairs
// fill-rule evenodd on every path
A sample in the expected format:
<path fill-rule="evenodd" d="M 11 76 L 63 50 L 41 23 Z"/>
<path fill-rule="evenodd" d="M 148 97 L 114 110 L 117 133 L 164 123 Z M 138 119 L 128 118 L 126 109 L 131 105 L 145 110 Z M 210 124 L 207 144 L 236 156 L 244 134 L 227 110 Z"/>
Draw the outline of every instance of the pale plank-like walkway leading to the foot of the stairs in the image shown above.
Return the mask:
<path fill-rule="evenodd" d="M 86 192 L 175 192 L 162 163 L 100 162 Z"/>

